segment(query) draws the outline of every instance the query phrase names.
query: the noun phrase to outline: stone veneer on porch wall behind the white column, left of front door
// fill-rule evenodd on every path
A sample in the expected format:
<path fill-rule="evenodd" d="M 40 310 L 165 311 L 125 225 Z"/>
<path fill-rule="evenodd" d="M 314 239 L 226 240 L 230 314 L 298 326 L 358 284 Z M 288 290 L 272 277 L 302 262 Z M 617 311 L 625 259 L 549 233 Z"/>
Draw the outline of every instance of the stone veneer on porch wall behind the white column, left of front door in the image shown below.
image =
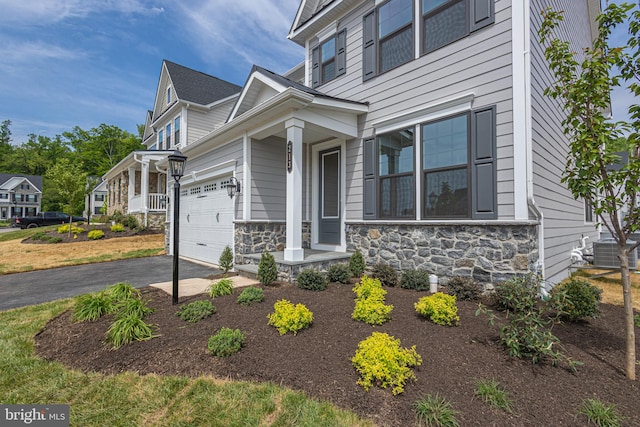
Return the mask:
<path fill-rule="evenodd" d="M 236 258 L 242 254 L 261 253 L 264 250 L 283 251 L 287 242 L 287 224 L 282 222 L 235 223 Z M 302 223 L 302 248 L 311 248 L 311 223 Z M 238 260 L 240 261 L 240 260 Z"/>

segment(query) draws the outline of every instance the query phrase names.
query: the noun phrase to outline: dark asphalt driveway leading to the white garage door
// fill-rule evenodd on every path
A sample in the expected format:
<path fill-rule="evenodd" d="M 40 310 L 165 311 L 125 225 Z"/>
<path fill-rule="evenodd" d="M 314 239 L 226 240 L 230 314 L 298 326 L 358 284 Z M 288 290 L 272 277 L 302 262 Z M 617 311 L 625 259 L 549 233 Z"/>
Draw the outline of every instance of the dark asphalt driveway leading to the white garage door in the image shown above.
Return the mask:
<path fill-rule="evenodd" d="M 218 273 L 212 267 L 181 259 L 180 279 L 207 277 Z M 40 304 L 104 289 L 118 282 L 137 288 L 173 280 L 173 258 L 147 258 L 52 268 L 0 276 L 0 310 Z"/>

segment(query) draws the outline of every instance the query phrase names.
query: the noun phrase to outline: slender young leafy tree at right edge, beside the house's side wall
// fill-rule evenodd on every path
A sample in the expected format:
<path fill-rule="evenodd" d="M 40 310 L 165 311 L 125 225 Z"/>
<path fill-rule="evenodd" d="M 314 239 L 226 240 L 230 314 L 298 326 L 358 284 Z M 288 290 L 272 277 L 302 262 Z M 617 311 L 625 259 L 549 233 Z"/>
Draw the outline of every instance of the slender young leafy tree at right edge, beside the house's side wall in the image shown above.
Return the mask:
<path fill-rule="evenodd" d="M 562 125 L 570 152 L 562 182 L 574 197 L 591 203 L 618 245 L 626 327 L 625 369 L 632 380 L 636 378 L 636 356 L 628 255 L 638 243 L 629 247 L 627 240 L 640 227 L 640 106 L 629 108 L 631 122 L 611 122 L 606 112 L 611 89 L 624 81 L 630 83 L 628 88 L 635 99 L 640 96 L 640 11 L 634 7 L 626 3 L 607 6 L 597 18 L 599 33 L 593 47 L 580 53 L 580 62 L 569 42 L 557 37 L 562 12 L 544 11 L 538 32 L 555 77 L 545 94 L 558 99 L 566 114 Z M 631 36 L 627 45 L 610 46 L 613 29 L 627 20 Z M 621 140 L 629 152 L 629 161 L 624 164 L 616 153 Z"/>

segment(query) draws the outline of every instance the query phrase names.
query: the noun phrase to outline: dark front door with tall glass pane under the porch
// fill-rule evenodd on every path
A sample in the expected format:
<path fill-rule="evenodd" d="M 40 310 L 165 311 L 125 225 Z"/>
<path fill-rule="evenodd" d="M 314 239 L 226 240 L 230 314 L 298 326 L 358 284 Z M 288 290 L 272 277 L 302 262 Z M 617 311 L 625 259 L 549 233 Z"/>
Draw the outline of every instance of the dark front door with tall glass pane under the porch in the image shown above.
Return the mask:
<path fill-rule="evenodd" d="M 319 153 L 320 212 L 318 215 L 318 243 L 339 245 L 340 235 L 340 147 Z"/>

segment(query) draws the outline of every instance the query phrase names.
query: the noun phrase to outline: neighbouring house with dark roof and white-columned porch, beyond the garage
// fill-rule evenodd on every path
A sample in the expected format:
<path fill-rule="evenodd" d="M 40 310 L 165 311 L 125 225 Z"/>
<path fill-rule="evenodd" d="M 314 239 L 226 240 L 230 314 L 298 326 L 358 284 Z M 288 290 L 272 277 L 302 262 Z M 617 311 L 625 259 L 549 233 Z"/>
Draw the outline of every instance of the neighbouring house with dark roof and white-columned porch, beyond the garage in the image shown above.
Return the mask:
<path fill-rule="evenodd" d="M 108 214 L 129 213 L 146 226 L 164 225 L 167 176 L 157 162 L 222 125 L 240 89 L 163 61 L 154 108 L 147 113 L 142 138 L 147 150 L 132 152 L 103 176 Z"/>

